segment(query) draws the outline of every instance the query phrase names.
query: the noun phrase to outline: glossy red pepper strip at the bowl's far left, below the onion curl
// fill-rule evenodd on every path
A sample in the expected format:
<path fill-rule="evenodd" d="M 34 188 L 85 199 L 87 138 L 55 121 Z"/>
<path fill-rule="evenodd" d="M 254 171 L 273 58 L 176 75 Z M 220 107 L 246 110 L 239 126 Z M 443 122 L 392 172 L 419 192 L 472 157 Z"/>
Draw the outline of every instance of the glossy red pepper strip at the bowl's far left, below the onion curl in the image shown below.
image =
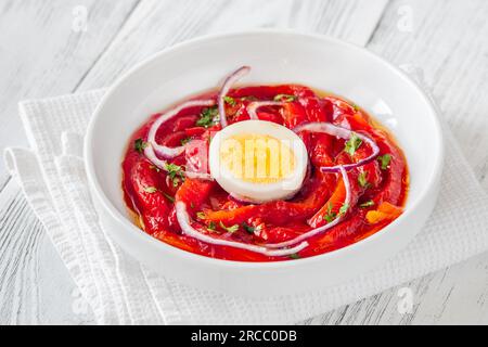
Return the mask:
<path fill-rule="evenodd" d="M 133 156 L 138 156 L 138 153 L 132 153 L 129 158 L 131 156 L 133 158 Z M 145 232 L 153 234 L 167 230 L 170 202 L 164 194 L 164 175 L 158 175 L 153 170 L 152 164 L 142 156 L 139 156 L 139 160 L 133 165 L 127 164 L 130 165 L 130 170 L 125 171 L 124 179 L 127 182 L 126 187 L 129 188 L 131 205 L 136 211 L 142 211 L 141 217 Z M 128 172 L 129 176 L 127 176 Z"/>

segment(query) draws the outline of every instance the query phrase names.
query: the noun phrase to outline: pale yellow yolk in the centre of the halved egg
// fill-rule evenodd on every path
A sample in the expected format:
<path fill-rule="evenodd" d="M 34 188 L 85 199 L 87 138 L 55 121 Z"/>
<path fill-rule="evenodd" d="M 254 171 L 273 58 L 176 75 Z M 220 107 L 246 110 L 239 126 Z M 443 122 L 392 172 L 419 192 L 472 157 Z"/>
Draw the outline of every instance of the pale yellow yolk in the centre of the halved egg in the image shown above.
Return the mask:
<path fill-rule="evenodd" d="M 220 165 L 237 179 L 252 183 L 273 183 L 291 176 L 296 166 L 291 141 L 266 134 L 243 133 L 220 145 Z"/>

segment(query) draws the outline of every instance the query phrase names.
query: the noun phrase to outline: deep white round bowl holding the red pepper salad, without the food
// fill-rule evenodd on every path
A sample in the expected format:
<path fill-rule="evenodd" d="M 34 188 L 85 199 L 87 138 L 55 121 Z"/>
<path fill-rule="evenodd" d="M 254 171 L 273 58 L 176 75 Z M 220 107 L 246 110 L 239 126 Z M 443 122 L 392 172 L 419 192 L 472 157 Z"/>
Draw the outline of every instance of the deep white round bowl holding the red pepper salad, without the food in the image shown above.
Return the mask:
<path fill-rule="evenodd" d="M 243 83 L 304 83 L 364 107 L 396 136 L 410 168 L 406 213 L 346 248 L 282 262 L 206 258 L 138 229 L 124 204 L 120 163 L 150 114 L 217 87 L 241 65 Z M 403 73 L 369 51 L 335 39 L 259 30 L 191 40 L 136 66 L 105 94 L 86 138 L 86 166 L 104 228 L 151 269 L 182 283 L 242 296 L 295 294 L 338 284 L 403 248 L 431 215 L 444 164 L 442 134 L 428 98 Z"/>

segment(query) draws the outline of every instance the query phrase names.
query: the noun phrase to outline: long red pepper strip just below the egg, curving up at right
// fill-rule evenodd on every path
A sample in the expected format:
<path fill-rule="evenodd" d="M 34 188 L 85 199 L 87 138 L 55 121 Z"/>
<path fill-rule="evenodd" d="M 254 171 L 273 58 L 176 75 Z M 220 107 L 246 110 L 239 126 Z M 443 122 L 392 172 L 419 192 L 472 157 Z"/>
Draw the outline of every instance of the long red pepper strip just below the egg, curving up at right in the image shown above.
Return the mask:
<path fill-rule="evenodd" d="M 226 226 L 241 224 L 251 218 L 261 218 L 264 221 L 284 226 L 294 220 L 310 217 L 323 205 L 335 184 L 333 175 L 323 175 L 313 179 L 312 185 L 301 202 L 275 201 L 264 205 L 248 205 L 232 210 L 204 210 L 207 221 L 220 222 Z"/>

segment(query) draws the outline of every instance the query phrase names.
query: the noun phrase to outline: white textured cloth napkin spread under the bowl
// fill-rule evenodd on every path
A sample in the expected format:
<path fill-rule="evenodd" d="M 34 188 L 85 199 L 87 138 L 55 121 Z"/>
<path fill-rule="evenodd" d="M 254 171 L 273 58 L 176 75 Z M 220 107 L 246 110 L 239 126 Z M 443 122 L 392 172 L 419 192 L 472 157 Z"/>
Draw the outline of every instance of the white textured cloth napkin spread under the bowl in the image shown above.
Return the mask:
<path fill-rule="evenodd" d="M 446 129 L 446 169 L 433 216 L 406 249 L 369 273 L 323 291 L 262 299 L 165 279 L 121 252 L 98 222 L 81 143 L 102 94 L 21 103 L 30 149 L 5 151 L 9 168 L 100 324 L 294 323 L 488 250 L 488 196 Z"/>

